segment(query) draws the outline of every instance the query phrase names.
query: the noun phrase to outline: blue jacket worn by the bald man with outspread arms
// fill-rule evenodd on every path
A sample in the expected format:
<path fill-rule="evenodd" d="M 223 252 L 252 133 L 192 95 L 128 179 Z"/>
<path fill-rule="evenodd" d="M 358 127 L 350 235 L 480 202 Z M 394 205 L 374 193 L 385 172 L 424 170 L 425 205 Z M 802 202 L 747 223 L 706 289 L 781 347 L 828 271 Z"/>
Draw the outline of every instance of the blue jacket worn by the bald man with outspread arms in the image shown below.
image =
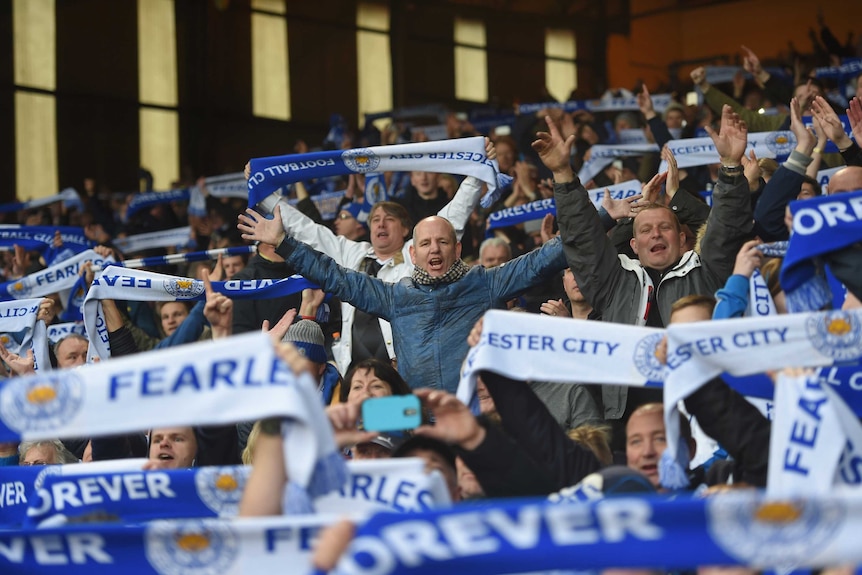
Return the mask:
<path fill-rule="evenodd" d="M 500 267 L 477 266 L 458 281 L 435 286 L 411 278 L 386 283 L 343 268 L 291 238 L 276 252 L 327 293 L 392 324 L 398 371 L 411 388 L 453 393 L 467 356 L 467 335 L 476 321 L 567 267 L 559 239 Z"/>

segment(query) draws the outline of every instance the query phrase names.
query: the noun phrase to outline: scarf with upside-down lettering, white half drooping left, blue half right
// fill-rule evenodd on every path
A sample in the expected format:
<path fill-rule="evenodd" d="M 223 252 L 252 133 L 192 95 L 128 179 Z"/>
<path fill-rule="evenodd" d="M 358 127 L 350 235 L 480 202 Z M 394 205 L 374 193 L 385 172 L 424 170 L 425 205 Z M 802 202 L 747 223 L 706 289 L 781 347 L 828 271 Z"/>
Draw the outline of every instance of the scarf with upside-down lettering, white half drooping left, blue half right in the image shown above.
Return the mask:
<path fill-rule="evenodd" d="M 314 288 L 302 276 L 283 279 L 228 280 L 212 282 L 213 290 L 232 299 L 274 298 Z M 108 333 L 99 300 L 198 301 L 206 299 L 201 280 L 169 276 L 144 270 L 109 266 L 96 274 L 84 301 L 84 325 L 90 340 L 88 355 L 111 356 Z"/>

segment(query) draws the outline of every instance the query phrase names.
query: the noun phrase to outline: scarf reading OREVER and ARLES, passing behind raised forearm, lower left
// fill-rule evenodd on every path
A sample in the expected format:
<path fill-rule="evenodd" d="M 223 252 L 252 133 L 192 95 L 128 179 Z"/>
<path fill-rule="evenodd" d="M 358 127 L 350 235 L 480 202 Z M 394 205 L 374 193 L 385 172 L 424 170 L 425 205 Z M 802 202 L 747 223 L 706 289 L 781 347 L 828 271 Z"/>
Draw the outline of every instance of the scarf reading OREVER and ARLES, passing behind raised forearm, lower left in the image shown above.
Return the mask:
<path fill-rule="evenodd" d="M 348 480 L 315 501 L 317 513 L 364 516 L 374 511 L 407 513 L 451 505 L 442 475 L 426 473 L 422 459 L 349 461 L 347 468 Z M 47 475 L 38 488 L 32 483 L 35 476 L 25 485 L 26 478 L 13 474 L 15 483 L 9 497 L 13 503 L 10 510 L 16 513 L 10 511 L 6 517 L 10 523 L 3 525 L 44 527 L 100 513 L 124 523 L 235 517 L 251 472 L 246 466 L 141 471 L 140 463 L 122 470 L 93 469 L 90 465 L 57 468 L 67 469 L 76 473 Z M 19 506 L 29 509 L 21 514 Z"/>

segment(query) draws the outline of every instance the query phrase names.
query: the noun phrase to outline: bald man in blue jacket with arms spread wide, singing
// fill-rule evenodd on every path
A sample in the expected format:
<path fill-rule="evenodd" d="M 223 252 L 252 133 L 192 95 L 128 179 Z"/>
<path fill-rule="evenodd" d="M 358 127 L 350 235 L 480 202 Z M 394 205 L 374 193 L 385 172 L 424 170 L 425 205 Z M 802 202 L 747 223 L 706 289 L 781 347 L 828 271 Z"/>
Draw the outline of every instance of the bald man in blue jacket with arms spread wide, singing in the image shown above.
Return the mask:
<path fill-rule="evenodd" d="M 413 231 L 412 276 L 385 283 L 286 237 L 278 207 L 273 216 L 265 220 L 249 209 L 237 227 L 244 239 L 276 246 L 289 266 L 327 293 L 392 324 L 398 371 L 412 388 L 454 393 L 467 355 L 467 334 L 476 320 L 491 308 L 504 309 L 508 300 L 567 267 L 562 245 L 554 239 L 502 266 L 470 268 L 461 261 L 452 224 L 431 216 Z"/>

